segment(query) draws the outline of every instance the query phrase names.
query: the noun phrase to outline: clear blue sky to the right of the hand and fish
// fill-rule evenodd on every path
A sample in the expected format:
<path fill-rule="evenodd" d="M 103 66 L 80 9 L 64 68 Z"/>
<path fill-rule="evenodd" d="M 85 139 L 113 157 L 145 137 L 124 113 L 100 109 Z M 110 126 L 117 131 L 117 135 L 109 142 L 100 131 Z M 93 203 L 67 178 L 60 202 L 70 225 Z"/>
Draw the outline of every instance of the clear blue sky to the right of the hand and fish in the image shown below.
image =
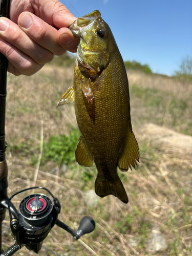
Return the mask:
<path fill-rule="evenodd" d="M 60 0 L 74 16 L 78 14 Z M 192 56 L 191 0 L 70 0 L 81 16 L 96 9 L 110 26 L 124 60 L 148 64 L 172 75 L 181 59 Z"/>

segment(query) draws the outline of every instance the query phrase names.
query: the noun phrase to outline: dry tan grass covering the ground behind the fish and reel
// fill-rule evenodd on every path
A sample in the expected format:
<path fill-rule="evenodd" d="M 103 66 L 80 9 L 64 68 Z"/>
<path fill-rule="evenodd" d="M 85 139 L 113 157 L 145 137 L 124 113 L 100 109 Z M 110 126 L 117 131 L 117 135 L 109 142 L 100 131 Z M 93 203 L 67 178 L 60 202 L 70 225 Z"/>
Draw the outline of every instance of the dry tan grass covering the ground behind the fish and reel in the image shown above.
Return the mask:
<path fill-rule="evenodd" d="M 39 159 L 41 157 L 37 145 L 42 145 L 42 138 L 46 142 L 52 135 L 69 134 L 71 126 L 76 126 L 73 105 L 56 108 L 62 93 L 71 86 L 72 78 L 72 69 L 50 66 L 32 77 L 8 76 L 7 142 L 11 148 L 15 84 L 14 145 L 24 145 L 19 152 L 13 151 L 13 156 L 11 150 L 7 152 L 9 196 L 36 183 L 48 187 L 59 198 L 62 206 L 59 219 L 75 230 L 84 215 L 95 219 L 94 232 L 83 236 L 80 241 L 73 241 L 69 233 L 54 227 L 44 246 L 59 255 L 191 255 L 191 154 L 175 151 L 170 145 L 157 144 L 150 132 L 146 136 L 141 133 L 141 127 L 147 122 L 160 124 L 156 116 L 161 105 L 157 106 L 156 111 L 153 104 L 145 105 L 145 98 L 139 98 L 137 93 L 131 95 L 132 122 L 141 158 L 137 170 L 120 174 L 130 200 L 127 205 L 108 196 L 98 198 L 95 205 L 89 206 L 85 193 L 88 189 L 94 189 L 94 181 L 83 184 L 80 178 L 82 169 L 77 164 L 73 166 L 73 175 L 69 170 L 60 173 L 59 166 L 53 161 L 40 167 L 39 162 L 31 164 L 32 155 L 37 154 Z M 158 95 L 164 97 L 170 93 L 186 100 L 188 105 L 185 111 L 188 114 L 183 122 L 191 119 L 188 110 L 191 106 L 191 84 L 137 72 L 129 72 L 129 81 L 131 91 L 132 86 L 137 84 L 141 89 L 155 88 Z M 172 100 L 172 96 L 168 97 Z M 163 120 L 172 118 L 168 110 L 162 113 L 159 115 L 163 116 Z M 164 121 L 161 124 L 167 123 Z M 167 126 L 184 131 L 179 124 L 174 126 L 168 122 Z M 57 167 L 57 171 L 51 174 L 54 167 Z M 95 175 L 94 168 L 89 170 Z M 15 203 L 18 204 L 20 199 L 16 197 Z M 8 216 L 5 225 L 9 226 Z M 153 229 L 158 229 L 166 240 L 167 247 L 163 251 L 152 251 L 148 246 Z M 3 238 L 4 248 L 13 244 L 8 230 L 6 235 Z M 42 248 L 39 255 L 53 255 L 47 248 Z M 17 255 L 26 253 L 34 255 L 25 248 Z"/>

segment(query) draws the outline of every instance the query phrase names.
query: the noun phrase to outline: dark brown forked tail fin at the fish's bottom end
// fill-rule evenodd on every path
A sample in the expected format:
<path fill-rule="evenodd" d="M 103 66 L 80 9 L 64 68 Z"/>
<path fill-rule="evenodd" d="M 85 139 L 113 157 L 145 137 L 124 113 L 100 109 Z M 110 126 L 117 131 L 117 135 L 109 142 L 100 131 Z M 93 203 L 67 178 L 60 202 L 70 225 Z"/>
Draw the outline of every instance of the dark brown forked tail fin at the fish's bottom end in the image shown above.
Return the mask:
<path fill-rule="evenodd" d="M 125 189 L 119 177 L 114 182 L 103 180 L 97 177 L 95 181 L 95 193 L 99 197 L 106 197 L 108 195 L 113 195 L 120 199 L 123 203 L 127 204 L 129 202 L 126 195 Z"/>

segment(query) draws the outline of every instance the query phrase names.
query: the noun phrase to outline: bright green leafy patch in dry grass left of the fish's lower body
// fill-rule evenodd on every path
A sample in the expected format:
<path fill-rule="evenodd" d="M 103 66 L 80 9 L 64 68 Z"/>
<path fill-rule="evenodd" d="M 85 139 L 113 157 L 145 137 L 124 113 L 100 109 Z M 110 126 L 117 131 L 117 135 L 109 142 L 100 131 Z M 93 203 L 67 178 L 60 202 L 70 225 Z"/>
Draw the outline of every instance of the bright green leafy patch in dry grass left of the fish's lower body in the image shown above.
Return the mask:
<path fill-rule="evenodd" d="M 69 168 L 70 179 L 78 179 L 82 183 L 87 183 L 94 180 L 96 176 L 96 168 L 90 169 L 83 166 L 78 166 L 75 160 L 75 151 L 78 144 L 80 133 L 78 129 L 72 129 L 69 135 L 51 136 L 47 142 L 44 142 L 42 148 L 42 156 L 40 159 L 40 166 L 44 166 L 50 161 L 61 166 L 65 164 Z M 40 154 L 40 145 L 36 146 L 32 151 L 32 141 L 23 141 L 14 145 L 14 152 L 20 157 L 30 158 L 32 165 L 36 165 L 38 162 L 38 156 Z M 11 151 L 11 148 L 9 148 Z M 76 169 L 79 167 L 79 174 L 77 175 Z"/>

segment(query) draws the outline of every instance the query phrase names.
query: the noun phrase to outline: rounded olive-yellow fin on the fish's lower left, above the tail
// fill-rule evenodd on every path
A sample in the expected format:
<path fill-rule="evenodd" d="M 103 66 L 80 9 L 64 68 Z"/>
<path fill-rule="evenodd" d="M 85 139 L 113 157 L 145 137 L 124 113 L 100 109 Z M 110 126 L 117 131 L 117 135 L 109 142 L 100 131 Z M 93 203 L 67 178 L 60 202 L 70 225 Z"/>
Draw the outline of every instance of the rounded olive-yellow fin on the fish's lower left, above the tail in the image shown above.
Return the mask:
<path fill-rule="evenodd" d="M 81 137 L 79 138 L 79 143 L 75 151 L 75 158 L 77 163 L 80 165 L 84 165 L 86 167 L 93 165 L 92 156 L 87 150 L 86 145 L 84 145 L 83 139 Z"/>

